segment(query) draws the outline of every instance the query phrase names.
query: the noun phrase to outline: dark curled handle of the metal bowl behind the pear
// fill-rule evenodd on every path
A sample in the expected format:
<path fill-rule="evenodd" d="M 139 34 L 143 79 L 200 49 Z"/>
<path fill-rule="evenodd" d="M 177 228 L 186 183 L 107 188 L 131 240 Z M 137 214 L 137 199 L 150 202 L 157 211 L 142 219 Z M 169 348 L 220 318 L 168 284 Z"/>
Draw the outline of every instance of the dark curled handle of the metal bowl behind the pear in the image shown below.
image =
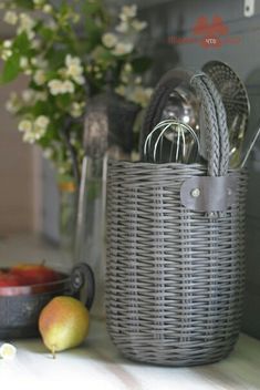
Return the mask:
<path fill-rule="evenodd" d="M 80 294 L 83 289 L 84 305 L 91 309 L 95 296 L 95 278 L 92 268 L 85 263 L 79 263 L 71 271 L 72 294 Z"/>

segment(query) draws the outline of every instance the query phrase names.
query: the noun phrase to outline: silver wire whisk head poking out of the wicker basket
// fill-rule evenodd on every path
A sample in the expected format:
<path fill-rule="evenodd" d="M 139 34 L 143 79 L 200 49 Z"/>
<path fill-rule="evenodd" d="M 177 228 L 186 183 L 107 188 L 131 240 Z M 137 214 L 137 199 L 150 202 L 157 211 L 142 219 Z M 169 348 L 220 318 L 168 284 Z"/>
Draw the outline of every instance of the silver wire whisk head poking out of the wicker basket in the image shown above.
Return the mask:
<path fill-rule="evenodd" d="M 195 163 L 200 154 L 199 138 L 187 123 L 159 122 L 144 143 L 144 158 L 149 163 Z"/>

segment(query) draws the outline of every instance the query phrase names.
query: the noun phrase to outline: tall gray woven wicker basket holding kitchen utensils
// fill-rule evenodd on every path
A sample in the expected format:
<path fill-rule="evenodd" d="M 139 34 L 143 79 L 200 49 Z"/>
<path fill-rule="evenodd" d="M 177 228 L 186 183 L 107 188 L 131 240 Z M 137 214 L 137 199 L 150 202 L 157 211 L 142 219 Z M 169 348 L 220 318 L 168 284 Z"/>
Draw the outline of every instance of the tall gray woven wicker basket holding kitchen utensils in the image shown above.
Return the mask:
<path fill-rule="evenodd" d="M 212 121 L 209 127 L 212 145 Z M 212 161 L 108 163 L 107 330 L 131 359 L 209 363 L 238 339 L 247 175 L 223 162 L 221 172 L 228 151 L 218 142 L 217 158 L 209 153 L 216 175 Z"/>

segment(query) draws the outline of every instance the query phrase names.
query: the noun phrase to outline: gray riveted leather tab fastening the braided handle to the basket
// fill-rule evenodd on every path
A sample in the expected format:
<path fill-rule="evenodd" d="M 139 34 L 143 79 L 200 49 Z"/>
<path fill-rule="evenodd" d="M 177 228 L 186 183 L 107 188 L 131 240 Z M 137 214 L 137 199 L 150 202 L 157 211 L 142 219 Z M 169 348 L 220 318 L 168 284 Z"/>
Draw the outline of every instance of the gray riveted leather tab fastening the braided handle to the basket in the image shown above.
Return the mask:
<path fill-rule="evenodd" d="M 196 212 L 225 212 L 236 201 L 237 177 L 197 176 L 180 187 L 180 202 Z"/>

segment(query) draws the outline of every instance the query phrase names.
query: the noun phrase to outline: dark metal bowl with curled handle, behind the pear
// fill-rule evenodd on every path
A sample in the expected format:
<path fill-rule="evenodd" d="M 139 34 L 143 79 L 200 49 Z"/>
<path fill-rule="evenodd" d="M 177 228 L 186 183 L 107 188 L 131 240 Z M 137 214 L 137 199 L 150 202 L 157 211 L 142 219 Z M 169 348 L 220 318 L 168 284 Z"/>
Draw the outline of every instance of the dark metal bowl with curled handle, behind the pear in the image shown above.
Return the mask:
<path fill-rule="evenodd" d="M 85 305 L 94 299 L 94 275 L 86 264 L 77 264 L 60 280 L 35 286 L 0 287 L 0 340 L 39 336 L 38 319 L 42 308 L 55 296 L 80 298 L 86 290 Z"/>

